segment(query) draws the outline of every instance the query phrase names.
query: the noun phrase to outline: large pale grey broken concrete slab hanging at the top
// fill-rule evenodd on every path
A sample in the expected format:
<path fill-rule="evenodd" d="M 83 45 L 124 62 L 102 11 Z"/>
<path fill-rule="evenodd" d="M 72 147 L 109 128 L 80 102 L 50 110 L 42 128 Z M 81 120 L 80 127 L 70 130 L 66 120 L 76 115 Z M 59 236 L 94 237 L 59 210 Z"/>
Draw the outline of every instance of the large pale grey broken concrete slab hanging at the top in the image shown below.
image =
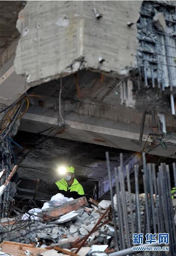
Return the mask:
<path fill-rule="evenodd" d="M 127 23 L 136 23 L 141 2 L 29 1 L 17 21 L 15 71 L 31 86 L 81 69 L 127 75 L 137 48 Z"/>

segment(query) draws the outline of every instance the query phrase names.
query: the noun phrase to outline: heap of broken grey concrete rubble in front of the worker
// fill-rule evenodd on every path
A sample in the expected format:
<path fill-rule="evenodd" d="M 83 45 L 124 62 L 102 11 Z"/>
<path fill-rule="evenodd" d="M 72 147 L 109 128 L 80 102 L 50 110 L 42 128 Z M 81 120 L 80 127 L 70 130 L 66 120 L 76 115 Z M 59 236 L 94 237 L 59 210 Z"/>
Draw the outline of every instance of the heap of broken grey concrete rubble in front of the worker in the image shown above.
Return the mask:
<path fill-rule="evenodd" d="M 127 192 L 126 198 L 127 210 L 130 211 L 129 195 Z M 131 198 L 135 215 L 135 194 L 131 194 Z M 49 209 L 44 211 L 37 208 L 31 209 L 26 215 L 23 215 L 22 219 L 17 216 L 16 222 L 13 225 L 6 227 L 1 225 L 0 239 L 1 241 L 8 240 L 24 243 L 22 245 L 23 248 L 26 243 L 29 244 L 30 248 L 38 246 L 36 248 L 44 249 L 44 252 L 54 249 L 58 251 L 60 256 L 66 254 L 84 256 L 85 252 L 86 254 L 88 253 L 87 251 L 89 251 L 89 256 L 105 256 L 108 252 L 115 249 L 111 201 L 102 200 L 100 203 L 95 200 L 90 201 L 96 209 L 88 207 L 86 197 L 67 201 L 60 206 L 50 206 Z M 140 197 L 141 212 L 144 211 L 144 202 L 144 198 Z M 114 203 L 117 203 L 116 195 L 114 196 Z M 115 204 L 115 210 L 116 208 Z M 40 217 L 38 214 L 40 214 Z M 28 215 L 30 218 L 25 218 L 25 216 L 29 217 Z M 116 220 L 118 222 L 117 215 Z M 143 221 L 143 219 L 141 220 Z M 12 253 L 12 251 L 2 251 L 4 253 Z M 51 252 L 55 255 L 55 251 Z M 14 254 L 12 253 L 12 255 Z M 46 256 L 48 254 L 44 253 L 42 255 Z"/>

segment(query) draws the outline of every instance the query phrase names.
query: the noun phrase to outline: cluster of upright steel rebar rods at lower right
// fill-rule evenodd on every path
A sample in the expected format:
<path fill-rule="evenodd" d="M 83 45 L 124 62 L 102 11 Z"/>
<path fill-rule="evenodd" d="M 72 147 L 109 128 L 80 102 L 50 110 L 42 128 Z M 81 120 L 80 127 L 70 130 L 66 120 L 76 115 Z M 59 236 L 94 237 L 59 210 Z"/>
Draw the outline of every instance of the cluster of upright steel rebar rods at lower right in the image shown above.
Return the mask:
<path fill-rule="evenodd" d="M 176 228 L 174 224 L 174 210 L 171 197 L 171 183 L 169 166 L 162 163 L 158 171 L 155 164 L 147 164 L 145 153 L 143 153 L 143 187 L 144 187 L 144 209 L 141 210 L 141 195 L 139 194 L 139 167 L 135 165 L 135 206 L 132 205 L 130 167 L 123 165 L 123 155 L 120 155 L 120 166 L 115 170 L 110 169 L 109 153 L 106 152 L 107 167 L 110 182 L 110 194 L 112 200 L 114 226 L 116 232 L 116 249 L 118 255 L 136 255 L 132 253 L 133 234 L 156 234 L 158 241 L 159 234 L 169 234 L 169 251 L 144 252 L 141 255 L 175 256 L 176 255 Z M 126 170 L 125 170 L 126 169 Z M 115 172 L 115 193 L 113 197 L 113 186 L 111 177 Z M 124 173 L 126 174 L 124 177 Z M 176 185 L 176 165 L 173 164 L 173 174 Z M 127 178 L 127 192 L 125 191 L 125 179 Z M 128 197 L 128 198 L 127 198 Z M 116 206 L 115 206 L 116 205 Z M 128 205 L 128 206 L 127 206 Z M 135 207 L 135 209 L 134 209 Z M 143 212 L 141 212 L 143 211 Z M 157 242 L 156 242 L 156 245 Z M 155 246 L 156 246 L 155 245 Z M 160 245 L 166 246 L 165 244 Z M 129 248 L 129 250 L 127 250 Z M 124 250 L 126 249 L 126 250 Z M 120 253 L 120 251 L 123 252 Z M 126 253 L 127 251 L 127 253 Z M 129 252 L 128 252 L 129 251 Z M 125 254 L 126 253 L 126 254 Z M 130 254 L 132 253 L 132 254 Z M 115 254 L 115 253 L 114 253 Z"/>

